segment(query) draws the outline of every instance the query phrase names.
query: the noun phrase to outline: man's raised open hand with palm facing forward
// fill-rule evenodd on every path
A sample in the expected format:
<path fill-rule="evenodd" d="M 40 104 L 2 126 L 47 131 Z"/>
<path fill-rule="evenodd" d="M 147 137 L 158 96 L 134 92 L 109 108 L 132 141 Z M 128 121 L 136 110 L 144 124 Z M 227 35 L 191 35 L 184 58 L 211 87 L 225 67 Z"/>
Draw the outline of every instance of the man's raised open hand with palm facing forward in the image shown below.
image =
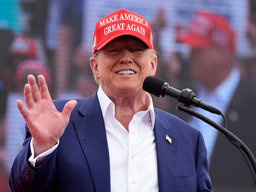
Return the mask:
<path fill-rule="evenodd" d="M 40 89 L 33 75 L 28 75 L 27 79 L 24 99 L 28 109 L 21 100 L 17 100 L 17 106 L 33 137 L 36 157 L 53 147 L 62 136 L 77 102 L 75 100 L 67 102 L 60 113 L 52 102 L 44 76 L 38 75 Z"/>

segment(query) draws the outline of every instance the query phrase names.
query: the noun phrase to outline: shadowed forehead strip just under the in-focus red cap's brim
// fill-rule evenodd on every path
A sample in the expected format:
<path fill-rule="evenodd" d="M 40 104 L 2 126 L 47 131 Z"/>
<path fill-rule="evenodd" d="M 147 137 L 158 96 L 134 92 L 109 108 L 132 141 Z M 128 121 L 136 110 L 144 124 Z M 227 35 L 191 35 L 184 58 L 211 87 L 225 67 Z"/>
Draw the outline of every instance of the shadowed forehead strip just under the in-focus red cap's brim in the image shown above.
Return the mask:
<path fill-rule="evenodd" d="M 142 40 L 130 35 L 123 35 L 123 36 L 117 37 L 114 40 L 110 41 L 105 47 L 108 47 L 111 45 L 117 45 L 119 43 L 131 43 L 131 44 L 136 44 L 138 46 L 147 48 L 146 44 L 143 43 Z"/>

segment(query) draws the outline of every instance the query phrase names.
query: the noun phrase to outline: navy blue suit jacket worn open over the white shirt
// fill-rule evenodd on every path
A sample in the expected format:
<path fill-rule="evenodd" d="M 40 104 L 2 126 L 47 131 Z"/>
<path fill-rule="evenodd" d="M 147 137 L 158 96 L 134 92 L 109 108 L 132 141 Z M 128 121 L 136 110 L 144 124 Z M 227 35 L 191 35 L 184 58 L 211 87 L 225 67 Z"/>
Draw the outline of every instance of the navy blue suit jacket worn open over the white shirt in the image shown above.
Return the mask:
<path fill-rule="evenodd" d="M 67 101 L 54 101 L 57 110 Z M 77 101 L 58 148 L 35 168 L 27 161 L 31 135 L 26 127 L 24 148 L 11 169 L 13 191 L 110 191 L 107 137 L 97 94 Z M 159 191 L 211 191 L 202 134 L 156 108 L 154 133 Z"/>

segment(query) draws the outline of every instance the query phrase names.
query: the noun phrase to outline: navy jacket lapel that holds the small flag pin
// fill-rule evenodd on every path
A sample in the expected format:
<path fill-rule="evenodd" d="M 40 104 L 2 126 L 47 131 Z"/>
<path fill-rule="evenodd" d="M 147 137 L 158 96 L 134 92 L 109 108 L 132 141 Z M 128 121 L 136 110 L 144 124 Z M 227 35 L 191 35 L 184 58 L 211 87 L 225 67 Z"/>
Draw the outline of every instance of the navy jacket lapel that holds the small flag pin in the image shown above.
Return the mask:
<path fill-rule="evenodd" d="M 161 118 L 155 111 L 155 143 L 158 167 L 159 191 L 172 191 L 175 181 L 176 151 L 178 139 L 171 134 L 171 125 Z M 171 143 L 166 140 L 166 135 L 171 138 Z"/>

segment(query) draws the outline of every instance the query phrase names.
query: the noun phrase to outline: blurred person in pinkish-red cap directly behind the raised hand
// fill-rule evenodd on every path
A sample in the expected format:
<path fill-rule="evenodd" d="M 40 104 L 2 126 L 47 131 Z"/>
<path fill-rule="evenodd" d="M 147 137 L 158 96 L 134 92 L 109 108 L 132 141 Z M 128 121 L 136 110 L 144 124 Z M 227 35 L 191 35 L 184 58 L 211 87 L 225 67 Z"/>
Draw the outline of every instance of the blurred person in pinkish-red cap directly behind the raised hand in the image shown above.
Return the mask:
<path fill-rule="evenodd" d="M 4 168 L 9 174 L 12 162 L 23 148 L 22 143 L 26 132 L 24 130 L 24 119 L 17 109 L 17 99 L 24 101 L 23 86 L 27 83 L 27 75 L 43 74 L 46 82 L 51 86 L 51 77 L 48 67 L 42 61 L 36 59 L 25 59 L 16 68 L 14 74 L 14 90 L 9 91 L 6 101 L 5 112 L 5 143 L 4 143 Z"/>

